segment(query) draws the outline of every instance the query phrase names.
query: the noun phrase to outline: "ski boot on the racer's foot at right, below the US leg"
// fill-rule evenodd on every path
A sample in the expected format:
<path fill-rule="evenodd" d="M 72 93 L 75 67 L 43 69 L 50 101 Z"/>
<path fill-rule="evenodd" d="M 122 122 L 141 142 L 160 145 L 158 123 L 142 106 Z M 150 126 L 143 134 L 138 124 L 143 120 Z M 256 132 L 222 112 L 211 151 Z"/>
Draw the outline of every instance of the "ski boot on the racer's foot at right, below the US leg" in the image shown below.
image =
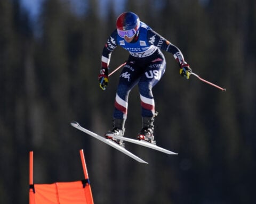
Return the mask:
<path fill-rule="evenodd" d="M 149 143 L 156 144 L 154 140 L 154 117 L 157 116 L 157 112 L 153 117 L 142 117 L 142 129 L 138 133 L 138 140 L 144 140 Z"/>

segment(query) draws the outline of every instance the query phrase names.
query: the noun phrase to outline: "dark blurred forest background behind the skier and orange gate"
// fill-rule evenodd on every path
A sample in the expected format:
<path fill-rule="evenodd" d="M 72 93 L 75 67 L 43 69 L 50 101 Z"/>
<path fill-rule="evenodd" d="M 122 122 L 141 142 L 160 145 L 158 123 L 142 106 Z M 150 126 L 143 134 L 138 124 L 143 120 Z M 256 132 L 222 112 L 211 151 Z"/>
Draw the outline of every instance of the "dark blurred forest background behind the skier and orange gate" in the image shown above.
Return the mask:
<path fill-rule="evenodd" d="M 180 77 L 164 52 L 166 72 L 153 89 L 155 135 L 179 155 L 126 143 L 148 165 L 70 125 L 76 120 L 98 134 L 111 128 L 118 72 L 106 91 L 98 73 L 124 11 L 177 45 L 195 73 L 227 89 Z M 30 150 L 35 183 L 83 179 L 79 149 L 95 203 L 256 203 L 256 1 L 84 0 L 75 7 L 44 0 L 39 12 L 34 19 L 20 1 L 0 1 L 0 203 L 28 203 Z M 128 55 L 117 48 L 110 69 Z M 138 94 L 130 94 L 126 137 L 141 128 Z"/>

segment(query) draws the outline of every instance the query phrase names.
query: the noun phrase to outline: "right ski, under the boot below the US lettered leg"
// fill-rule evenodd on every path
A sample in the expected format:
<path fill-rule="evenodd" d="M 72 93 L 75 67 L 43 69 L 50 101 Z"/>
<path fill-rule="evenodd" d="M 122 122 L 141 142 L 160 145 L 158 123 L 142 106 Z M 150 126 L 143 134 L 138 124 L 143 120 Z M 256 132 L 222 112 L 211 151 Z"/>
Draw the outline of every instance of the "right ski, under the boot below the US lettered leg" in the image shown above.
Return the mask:
<path fill-rule="evenodd" d="M 134 144 L 137 144 L 137 145 L 141 145 L 141 146 L 144 146 L 144 147 L 148 147 L 150 149 L 154 149 L 154 150 L 157 150 L 157 151 L 161 151 L 161 152 L 164 152 L 165 154 L 168 154 L 168 155 L 178 155 L 175 152 L 172 152 L 170 150 L 164 149 L 162 147 L 159 147 L 159 146 L 157 146 L 155 144 L 152 144 L 152 143 L 149 143 L 147 141 L 135 140 L 135 139 L 125 138 L 125 137 L 120 137 L 120 136 L 113 136 L 113 138 L 116 138 L 116 139 L 119 139 L 119 140 L 124 140 L 126 142 L 131 142 L 131 143 L 134 143 Z"/>

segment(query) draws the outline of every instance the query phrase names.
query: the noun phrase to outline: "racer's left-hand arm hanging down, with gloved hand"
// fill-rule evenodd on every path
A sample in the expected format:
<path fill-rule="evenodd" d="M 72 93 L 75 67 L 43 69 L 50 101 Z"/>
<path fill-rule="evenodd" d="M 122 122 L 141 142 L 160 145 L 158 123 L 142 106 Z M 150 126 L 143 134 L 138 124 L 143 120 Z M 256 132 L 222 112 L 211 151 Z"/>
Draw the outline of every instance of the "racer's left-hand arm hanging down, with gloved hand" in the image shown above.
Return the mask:
<path fill-rule="evenodd" d="M 113 33 L 111 33 L 107 43 L 105 44 L 102 50 L 101 69 L 100 74 L 98 75 L 100 88 L 102 90 L 105 90 L 108 85 L 108 65 L 110 63 L 111 53 L 117 47 L 116 36 L 117 31 L 115 30 Z"/>

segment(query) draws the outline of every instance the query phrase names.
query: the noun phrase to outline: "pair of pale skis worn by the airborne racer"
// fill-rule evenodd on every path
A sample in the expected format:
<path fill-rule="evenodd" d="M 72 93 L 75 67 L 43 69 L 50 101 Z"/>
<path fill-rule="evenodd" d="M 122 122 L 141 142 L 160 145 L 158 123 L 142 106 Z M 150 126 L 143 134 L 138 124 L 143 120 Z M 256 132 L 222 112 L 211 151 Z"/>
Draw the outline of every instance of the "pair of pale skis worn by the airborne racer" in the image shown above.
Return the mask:
<path fill-rule="evenodd" d="M 119 146 L 116 142 L 114 142 L 113 140 L 110 140 L 110 139 L 106 139 L 104 137 L 101 137 L 100 135 L 94 133 L 94 132 L 91 132 L 90 130 L 87 130 L 85 128 L 83 128 L 81 125 L 79 125 L 79 123 L 73 121 L 70 123 L 74 128 L 78 129 L 78 130 L 81 130 L 83 132 L 85 132 L 86 134 L 89 134 L 91 135 L 92 137 L 106 143 L 107 145 L 123 152 L 125 155 L 137 160 L 138 162 L 140 163 L 145 163 L 145 164 L 148 164 L 147 162 L 145 162 L 145 160 L 139 158 L 138 156 L 132 154 L 132 152 L 128 151 L 127 149 L 125 149 L 124 147 L 121 147 Z M 119 139 L 119 140 L 124 140 L 126 142 L 131 142 L 131 143 L 135 143 L 137 145 L 141 145 L 141 146 L 144 146 L 144 147 L 148 147 L 148 148 L 151 148 L 151 149 L 154 149 L 154 150 L 157 150 L 157 151 L 161 151 L 161 152 L 164 152 L 165 154 L 168 154 L 168 155 L 177 155 L 177 153 L 175 152 L 172 152 L 170 150 L 167 150 L 167 149 L 164 149 L 162 147 L 159 147 L 157 145 L 154 145 L 152 143 L 149 143 L 149 142 L 146 142 L 146 141 L 141 141 L 141 140 L 134 140 L 134 139 L 131 139 L 131 138 L 125 138 L 125 137 L 119 137 L 119 136 L 114 136 L 113 138 L 116 138 L 116 139 Z"/>

